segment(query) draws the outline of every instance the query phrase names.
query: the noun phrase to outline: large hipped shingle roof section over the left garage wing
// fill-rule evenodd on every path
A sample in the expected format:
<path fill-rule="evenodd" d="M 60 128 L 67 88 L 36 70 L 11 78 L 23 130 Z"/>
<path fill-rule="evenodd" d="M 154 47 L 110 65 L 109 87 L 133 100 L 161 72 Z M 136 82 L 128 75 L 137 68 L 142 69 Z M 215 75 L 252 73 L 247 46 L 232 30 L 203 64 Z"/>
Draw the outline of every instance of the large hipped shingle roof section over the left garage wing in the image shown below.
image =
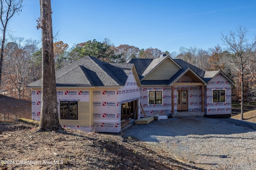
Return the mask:
<path fill-rule="evenodd" d="M 56 86 L 124 86 L 132 69 L 131 63 L 104 63 L 86 56 L 56 71 Z M 38 80 L 30 87 L 40 87 Z"/>

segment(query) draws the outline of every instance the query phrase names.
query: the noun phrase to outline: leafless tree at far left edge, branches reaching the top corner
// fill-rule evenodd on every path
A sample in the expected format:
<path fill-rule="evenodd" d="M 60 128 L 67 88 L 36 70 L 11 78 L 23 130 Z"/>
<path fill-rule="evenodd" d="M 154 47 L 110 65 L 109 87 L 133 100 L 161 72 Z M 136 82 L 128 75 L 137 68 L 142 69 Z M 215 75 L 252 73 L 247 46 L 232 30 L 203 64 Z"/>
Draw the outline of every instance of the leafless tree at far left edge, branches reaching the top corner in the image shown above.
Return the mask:
<path fill-rule="evenodd" d="M 0 89 L 1 89 L 1 82 L 2 82 L 2 65 L 3 65 L 6 29 L 7 29 L 8 21 L 14 16 L 14 14 L 21 11 L 22 1 L 23 0 L 0 0 L 1 2 L 0 21 L 2 23 L 1 25 L 2 45 L 1 45 L 1 55 L 0 55 Z"/>

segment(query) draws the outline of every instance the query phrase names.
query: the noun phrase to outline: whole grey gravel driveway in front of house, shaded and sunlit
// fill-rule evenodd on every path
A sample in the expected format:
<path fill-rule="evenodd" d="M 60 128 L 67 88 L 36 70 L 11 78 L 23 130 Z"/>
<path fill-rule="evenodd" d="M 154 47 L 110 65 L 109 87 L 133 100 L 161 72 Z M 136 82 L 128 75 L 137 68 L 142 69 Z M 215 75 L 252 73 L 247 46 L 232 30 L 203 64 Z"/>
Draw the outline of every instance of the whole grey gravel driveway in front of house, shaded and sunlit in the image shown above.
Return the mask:
<path fill-rule="evenodd" d="M 132 136 L 176 159 L 211 169 L 256 170 L 256 131 L 229 119 L 182 117 L 132 125 Z M 236 125 L 235 125 L 236 124 Z"/>

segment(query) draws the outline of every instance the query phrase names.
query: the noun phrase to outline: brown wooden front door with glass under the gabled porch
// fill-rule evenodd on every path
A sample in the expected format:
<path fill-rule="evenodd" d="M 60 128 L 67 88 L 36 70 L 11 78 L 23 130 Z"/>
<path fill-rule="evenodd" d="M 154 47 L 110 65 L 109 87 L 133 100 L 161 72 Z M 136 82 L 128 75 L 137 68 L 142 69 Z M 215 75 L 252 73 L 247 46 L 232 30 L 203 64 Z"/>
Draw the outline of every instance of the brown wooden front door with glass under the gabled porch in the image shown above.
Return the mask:
<path fill-rule="evenodd" d="M 177 111 L 188 111 L 188 91 L 177 91 Z"/>

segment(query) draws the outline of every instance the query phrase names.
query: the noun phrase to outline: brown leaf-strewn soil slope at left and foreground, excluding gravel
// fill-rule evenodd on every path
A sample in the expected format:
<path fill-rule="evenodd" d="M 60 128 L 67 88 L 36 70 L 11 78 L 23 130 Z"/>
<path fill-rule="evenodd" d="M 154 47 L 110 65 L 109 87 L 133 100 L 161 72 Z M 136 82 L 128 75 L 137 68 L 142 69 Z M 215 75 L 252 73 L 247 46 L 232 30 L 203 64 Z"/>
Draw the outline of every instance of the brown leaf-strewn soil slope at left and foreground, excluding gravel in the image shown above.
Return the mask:
<path fill-rule="evenodd" d="M 31 119 L 30 101 L 0 96 L 0 115 L 1 170 L 204 169 L 200 164 L 174 159 L 168 152 L 132 137 L 122 138 L 121 133 L 72 129 L 37 133 L 38 122 L 26 120 Z"/>

